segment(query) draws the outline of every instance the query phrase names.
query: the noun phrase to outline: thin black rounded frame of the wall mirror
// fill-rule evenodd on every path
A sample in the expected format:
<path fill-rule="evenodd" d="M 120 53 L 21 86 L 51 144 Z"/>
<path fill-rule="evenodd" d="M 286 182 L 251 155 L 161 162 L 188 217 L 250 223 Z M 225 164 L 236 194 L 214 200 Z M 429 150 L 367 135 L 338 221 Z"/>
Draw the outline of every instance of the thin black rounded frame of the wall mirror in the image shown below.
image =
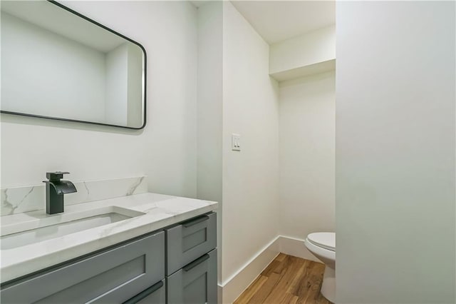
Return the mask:
<path fill-rule="evenodd" d="M 90 123 L 90 124 L 95 124 L 95 125 L 98 125 L 98 126 L 113 126 L 113 127 L 118 127 L 118 128 L 128 128 L 128 129 L 133 129 L 133 130 L 140 130 L 142 128 L 145 127 L 145 124 L 146 124 L 146 113 L 147 113 L 147 54 L 146 54 L 146 51 L 144 49 L 144 47 L 139 44 L 138 42 L 128 38 L 127 36 L 124 36 L 123 34 L 120 34 L 118 33 L 117 31 L 114 31 L 113 29 L 110 29 L 108 28 L 107 26 L 104 26 L 103 24 L 100 24 L 98 23 L 97 21 L 93 20 L 93 19 L 90 19 L 88 18 L 87 16 L 84 16 L 83 14 L 80 14 L 78 13 L 77 11 L 73 11 L 73 9 L 70 9 L 69 7 L 67 6 L 64 6 L 63 4 L 55 1 L 55 0 L 46 0 L 48 2 L 50 2 L 51 4 L 54 4 L 56 6 L 59 6 L 61 9 L 65 9 L 66 11 L 69 11 L 70 13 L 72 14 L 75 14 L 76 16 L 82 18 L 82 19 L 85 19 L 86 21 L 89 21 L 93 24 L 95 24 L 96 26 L 100 26 L 101 28 L 107 30 L 107 31 L 110 31 L 111 33 L 117 35 L 117 36 L 120 36 L 122 37 L 123 39 L 125 40 L 128 40 L 130 41 L 131 43 L 133 44 L 136 44 L 137 46 L 140 47 L 140 49 L 142 50 L 142 53 L 144 54 L 144 92 L 143 92 L 143 100 L 142 100 L 142 103 L 143 103 L 143 106 L 142 106 L 142 111 L 144 112 L 143 113 L 143 122 L 142 122 L 142 126 L 138 127 L 138 128 L 134 128 L 134 127 L 130 127 L 130 126 L 119 126 L 119 125 L 113 125 L 113 124 L 110 124 L 110 123 L 98 123 L 98 122 L 95 122 L 95 121 L 80 121 L 78 119 L 70 119 L 70 118 L 59 118 L 59 117 L 53 117 L 53 116 L 42 116 L 42 115 L 36 115 L 36 114 L 28 114 L 28 113 L 19 113 L 19 112 L 14 112 L 14 111 L 3 111 L 0 109 L 0 113 L 6 113 L 6 114 L 13 114 L 13 115 L 20 115 L 20 116 L 28 116 L 28 117 L 37 117 L 37 118 L 46 118 L 46 119 L 52 119 L 52 120 L 56 120 L 56 121 L 71 121 L 71 122 L 76 122 L 76 123 Z"/>

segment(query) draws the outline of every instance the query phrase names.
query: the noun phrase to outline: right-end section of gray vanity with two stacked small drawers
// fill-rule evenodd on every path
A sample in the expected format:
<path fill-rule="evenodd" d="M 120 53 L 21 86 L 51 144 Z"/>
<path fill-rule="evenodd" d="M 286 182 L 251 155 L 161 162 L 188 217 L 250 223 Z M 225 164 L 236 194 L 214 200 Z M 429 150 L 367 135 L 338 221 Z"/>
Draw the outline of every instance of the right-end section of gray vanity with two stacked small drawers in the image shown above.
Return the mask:
<path fill-rule="evenodd" d="M 217 303 L 217 214 L 165 231 L 167 303 Z"/>

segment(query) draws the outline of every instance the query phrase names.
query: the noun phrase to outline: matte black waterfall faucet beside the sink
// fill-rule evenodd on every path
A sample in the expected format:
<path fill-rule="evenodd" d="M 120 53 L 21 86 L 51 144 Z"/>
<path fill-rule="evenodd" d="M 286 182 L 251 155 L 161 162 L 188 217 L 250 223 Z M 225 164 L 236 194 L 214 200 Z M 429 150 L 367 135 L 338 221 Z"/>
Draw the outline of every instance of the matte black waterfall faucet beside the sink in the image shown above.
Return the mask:
<path fill-rule="evenodd" d="M 63 194 L 76 192 L 76 187 L 71 181 L 63 181 L 63 174 L 69 172 L 46 172 L 46 213 L 55 214 L 63 212 Z"/>

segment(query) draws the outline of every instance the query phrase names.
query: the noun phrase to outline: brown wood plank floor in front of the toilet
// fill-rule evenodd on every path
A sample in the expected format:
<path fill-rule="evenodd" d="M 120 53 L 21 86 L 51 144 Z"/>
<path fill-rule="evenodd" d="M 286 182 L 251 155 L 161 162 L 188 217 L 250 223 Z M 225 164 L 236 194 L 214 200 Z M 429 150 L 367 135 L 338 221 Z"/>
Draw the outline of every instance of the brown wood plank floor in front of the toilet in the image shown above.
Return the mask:
<path fill-rule="evenodd" d="M 234 304 L 331 303 L 320 293 L 325 265 L 279 253 Z"/>

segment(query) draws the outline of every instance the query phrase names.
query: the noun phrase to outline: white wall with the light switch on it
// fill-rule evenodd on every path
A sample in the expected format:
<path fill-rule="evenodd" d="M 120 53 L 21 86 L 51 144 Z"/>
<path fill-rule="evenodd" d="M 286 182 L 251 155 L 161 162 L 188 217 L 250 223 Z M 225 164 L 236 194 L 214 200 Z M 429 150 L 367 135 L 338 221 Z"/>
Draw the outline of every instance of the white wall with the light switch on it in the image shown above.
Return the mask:
<path fill-rule="evenodd" d="M 230 2 L 224 2 L 223 13 L 222 279 L 227 283 L 279 232 L 279 119 L 268 44 Z M 241 135 L 242 151 L 231 150 L 232 133 Z"/>

